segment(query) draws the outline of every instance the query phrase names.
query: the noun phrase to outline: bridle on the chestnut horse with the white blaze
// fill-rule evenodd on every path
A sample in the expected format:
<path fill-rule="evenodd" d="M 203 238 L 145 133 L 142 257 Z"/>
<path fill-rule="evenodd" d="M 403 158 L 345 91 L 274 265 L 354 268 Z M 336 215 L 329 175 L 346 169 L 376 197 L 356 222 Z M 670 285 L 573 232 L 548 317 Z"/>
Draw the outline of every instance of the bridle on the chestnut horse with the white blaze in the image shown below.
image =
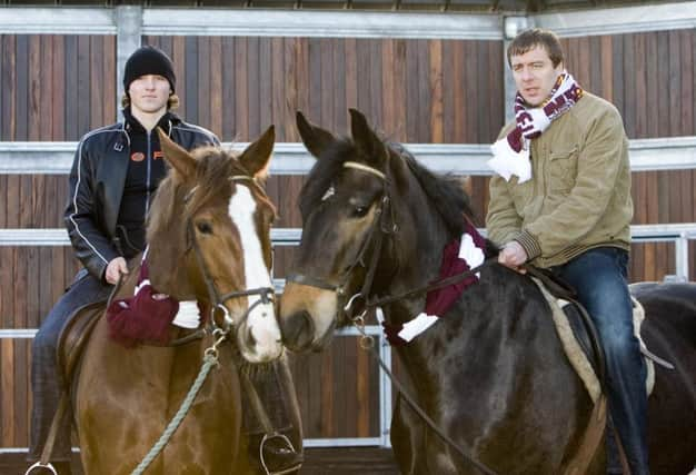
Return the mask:
<path fill-rule="evenodd" d="M 246 175 L 235 175 L 230 177 L 230 180 L 231 181 L 242 181 L 242 180 L 250 181 L 251 184 L 256 185 L 256 181 L 253 180 L 253 178 L 248 177 Z M 185 202 L 188 201 L 195 191 L 196 191 L 196 188 L 189 191 L 189 194 L 186 196 L 183 201 Z M 200 268 L 203 275 L 203 281 L 206 283 L 206 288 L 208 289 L 208 298 L 210 299 L 210 303 L 212 304 L 210 325 L 212 326 L 213 330 L 215 329 L 220 330 L 220 328 L 218 328 L 217 324 L 215 323 L 215 318 L 212 318 L 213 317 L 212 313 L 215 313 L 217 308 L 222 310 L 222 313 L 225 314 L 225 321 L 228 324 L 228 326 L 221 330 L 225 334 L 228 334 L 232 327 L 238 326 L 241 323 L 246 321 L 249 318 L 249 314 L 251 314 L 251 310 L 253 310 L 253 308 L 256 308 L 258 305 L 270 304 L 275 301 L 276 291 L 272 287 L 259 287 L 259 288 L 245 289 L 245 290 L 232 290 L 232 291 L 228 291 L 227 294 L 220 295 L 218 293 L 218 289 L 215 285 L 212 277 L 210 276 L 210 271 L 208 270 L 208 266 L 206 265 L 206 259 L 203 259 L 203 255 L 198 244 L 198 240 L 196 239 L 196 232 L 193 231 L 193 225 L 190 218 L 188 219 L 187 225 L 186 225 L 186 232 L 187 232 L 187 237 L 189 241 L 189 249 L 193 249 L 193 254 L 196 255 L 196 261 L 198 263 L 198 267 Z M 235 321 L 229 310 L 225 306 L 225 303 L 232 298 L 249 297 L 252 295 L 258 295 L 259 299 L 255 301 L 253 304 L 251 304 L 249 308 L 247 308 L 247 310 L 243 313 L 239 321 Z"/>

